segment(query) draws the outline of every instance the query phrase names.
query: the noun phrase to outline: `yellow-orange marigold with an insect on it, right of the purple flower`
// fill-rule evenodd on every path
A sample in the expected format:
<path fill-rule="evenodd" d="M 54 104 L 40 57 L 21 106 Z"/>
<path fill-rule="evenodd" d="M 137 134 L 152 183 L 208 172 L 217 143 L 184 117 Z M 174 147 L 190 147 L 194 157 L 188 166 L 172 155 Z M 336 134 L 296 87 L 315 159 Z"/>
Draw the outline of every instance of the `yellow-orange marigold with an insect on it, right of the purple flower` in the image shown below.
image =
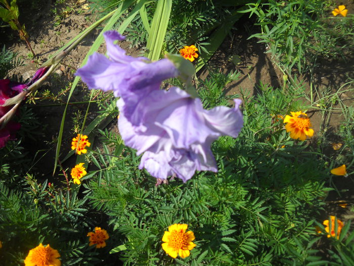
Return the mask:
<path fill-rule="evenodd" d="M 290 132 L 293 139 L 305 140 L 306 136 L 312 137 L 314 130 L 306 113 L 298 111 L 291 112 L 291 116 L 286 115 L 284 118 L 286 132 Z"/>

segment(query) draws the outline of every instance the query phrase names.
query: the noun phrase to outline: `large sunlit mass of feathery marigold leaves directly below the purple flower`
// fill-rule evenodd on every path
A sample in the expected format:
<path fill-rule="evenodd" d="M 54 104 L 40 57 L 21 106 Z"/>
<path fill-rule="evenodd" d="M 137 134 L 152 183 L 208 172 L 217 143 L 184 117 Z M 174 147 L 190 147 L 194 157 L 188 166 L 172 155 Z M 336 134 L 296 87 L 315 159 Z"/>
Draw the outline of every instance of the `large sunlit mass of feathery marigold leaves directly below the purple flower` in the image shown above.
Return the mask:
<path fill-rule="evenodd" d="M 229 81 L 211 75 L 205 88 L 199 87 L 200 93 L 205 90 L 204 105 L 225 102 L 223 85 Z M 112 252 L 124 265 L 303 265 L 319 260 L 313 217 L 330 190 L 324 185 L 326 162 L 290 140 L 282 121 L 274 119 L 274 114 L 299 108 L 294 99 L 301 96 L 265 85 L 255 97 L 243 93 L 240 136 L 222 137 L 212 145 L 218 173 L 200 172 L 187 183 L 170 179 L 155 186 L 127 147 L 119 158 L 92 155 L 98 170 L 85 193 L 93 208 L 107 214 L 112 235 L 121 239 Z M 107 145 L 120 143 L 104 135 Z M 163 233 L 173 223 L 187 223 L 196 236 L 196 248 L 183 260 L 172 260 L 161 248 Z"/>

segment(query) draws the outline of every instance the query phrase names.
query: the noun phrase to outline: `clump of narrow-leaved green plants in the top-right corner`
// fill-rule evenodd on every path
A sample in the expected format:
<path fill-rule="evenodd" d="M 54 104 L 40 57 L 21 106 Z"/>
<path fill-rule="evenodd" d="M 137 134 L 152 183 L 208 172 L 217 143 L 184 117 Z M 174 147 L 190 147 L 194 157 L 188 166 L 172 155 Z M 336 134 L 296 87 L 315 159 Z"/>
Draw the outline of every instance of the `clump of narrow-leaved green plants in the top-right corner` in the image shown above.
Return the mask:
<path fill-rule="evenodd" d="M 259 42 L 269 45 L 289 73 L 297 67 L 303 73 L 314 67 L 319 56 L 335 58 L 350 52 L 353 35 L 352 21 L 331 19 L 325 1 L 268 1 L 249 4 L 247 12 L 257 16 L 261 32 Z M 333 8 L 333 7 L 332 7 Z"/>

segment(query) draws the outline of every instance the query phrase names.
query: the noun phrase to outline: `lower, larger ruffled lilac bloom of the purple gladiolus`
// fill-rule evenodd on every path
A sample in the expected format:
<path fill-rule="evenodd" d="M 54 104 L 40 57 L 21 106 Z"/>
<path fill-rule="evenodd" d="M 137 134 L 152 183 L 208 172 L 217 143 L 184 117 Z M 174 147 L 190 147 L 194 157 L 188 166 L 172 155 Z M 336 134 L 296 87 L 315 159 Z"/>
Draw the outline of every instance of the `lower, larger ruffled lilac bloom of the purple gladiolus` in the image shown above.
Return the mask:
<path fill-rule="evenodd" d="M 222 135 L 237 137 L 243 126 L 239 109 L 218 106 L 205 110 L 198 98 L 171 88 L 154 91 L 141 99 L 133 113 L 121 113 L 118 121 L 125 144 L 144 153 L 139 168 L 156 178 L 176 174 L 184 182 L 196 170 L 217 172 L 211 143 Z M 119 109 L 125 102 L 117 102 Z"/>

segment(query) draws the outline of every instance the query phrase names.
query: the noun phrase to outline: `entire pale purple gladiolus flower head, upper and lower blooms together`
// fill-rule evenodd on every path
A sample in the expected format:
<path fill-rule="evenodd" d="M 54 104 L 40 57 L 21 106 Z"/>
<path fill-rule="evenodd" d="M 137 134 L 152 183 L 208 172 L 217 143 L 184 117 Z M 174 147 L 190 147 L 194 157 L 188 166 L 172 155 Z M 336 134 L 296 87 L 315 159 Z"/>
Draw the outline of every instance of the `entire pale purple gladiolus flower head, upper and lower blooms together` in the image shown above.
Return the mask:
<path fill-rule="evenodd" d="M 219 136 L 237 137 L 243 126 L 239 109 L 203 109 L 200 99 L 180 88 L 160 90 L 163 80 L 180 73 L 168 59 L 150 62 L 131 57 L 114 44 L 124 37 L 104 33 L 108 57 L 95 53 L 77 70 L 89 89 L 112 90 L 120 97 L 118 127 L 127 146 L 143 154 L 139 168 L 156 178 L 176 175 L 184 182 L 198 171 L 217 171 L 210 145 Z"/>

